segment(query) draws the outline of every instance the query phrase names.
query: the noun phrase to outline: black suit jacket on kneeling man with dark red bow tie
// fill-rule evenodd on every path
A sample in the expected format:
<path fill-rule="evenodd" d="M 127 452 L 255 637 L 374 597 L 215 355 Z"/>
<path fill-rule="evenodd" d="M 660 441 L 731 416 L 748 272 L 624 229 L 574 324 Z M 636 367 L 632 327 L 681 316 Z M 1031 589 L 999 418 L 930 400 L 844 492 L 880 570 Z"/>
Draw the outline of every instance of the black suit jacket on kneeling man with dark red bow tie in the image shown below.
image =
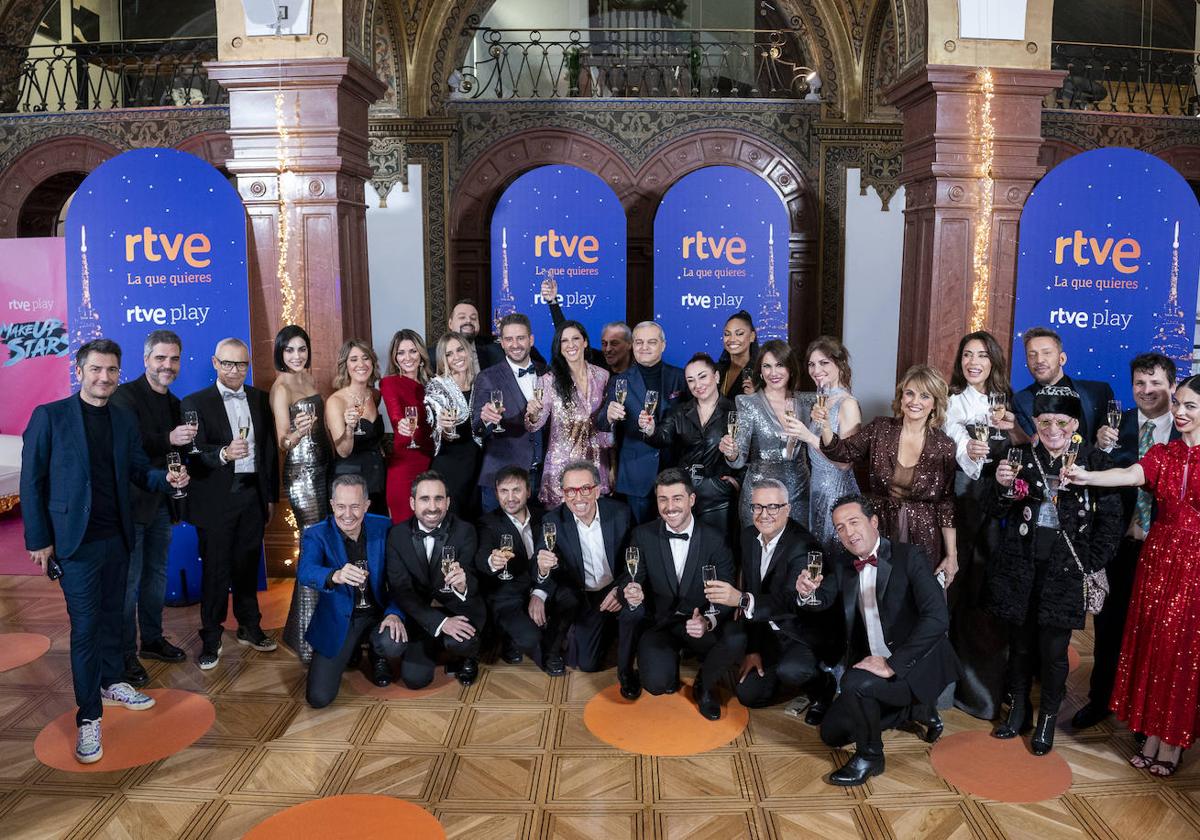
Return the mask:
<path fill-rule="evenodd" d="M 934 577 L 929 559 L 917 546 L 880 541 L 875 596 L 880 608 L 883 641 L 892 652 L 888 666 L 895 679 L 908 683 L 922 703 L 937 702 L 947 685 L 959 678 L 959 660 L 947 631 L 950 613 L 946 593 Z M 852 667 L 870 654 L 854 644 L 854 624 L 862 622 L 858 607 L 858 572 L 854 558 L 839 551 L 827 564 L 824 581 L 816 592 L 817 604 L 802 610 L 824 610 L 841 602 L 847 646 L 845 665 Z"/>

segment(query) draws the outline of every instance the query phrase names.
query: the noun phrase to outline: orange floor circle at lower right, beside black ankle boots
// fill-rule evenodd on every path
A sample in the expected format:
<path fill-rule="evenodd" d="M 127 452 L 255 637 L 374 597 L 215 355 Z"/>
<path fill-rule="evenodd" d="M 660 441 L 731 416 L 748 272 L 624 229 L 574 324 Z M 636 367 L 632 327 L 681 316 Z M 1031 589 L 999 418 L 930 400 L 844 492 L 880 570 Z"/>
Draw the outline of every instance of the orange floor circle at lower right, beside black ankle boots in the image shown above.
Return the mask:
<path fill-rule="evenodd" d="M 1001 740 L 988 732 L 946 736 L 934 744 L 929 761 L 960 791 L 998 802 L 1054 799 L 1072 780 L 1070 766 L 1057 752 L 1036 756 L 1025 740 Z"/>

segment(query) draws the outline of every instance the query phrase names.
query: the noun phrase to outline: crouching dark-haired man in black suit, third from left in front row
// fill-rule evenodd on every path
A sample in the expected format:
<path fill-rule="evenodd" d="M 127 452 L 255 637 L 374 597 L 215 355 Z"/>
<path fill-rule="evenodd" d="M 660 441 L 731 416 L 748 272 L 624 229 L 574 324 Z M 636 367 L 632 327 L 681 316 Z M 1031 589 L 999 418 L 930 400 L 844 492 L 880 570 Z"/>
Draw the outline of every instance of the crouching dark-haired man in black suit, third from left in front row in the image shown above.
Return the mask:
<path fill-rule="evenodd" d="M 551 676 L 559 676 L 563 673 L 563 658 L 557 652 L 562 648 L 562 638 L 558 648 L 544 655 L 541 630 L 526 611 L 530 558 L 535 553 L 535 535 L 541 533 L 545 514 L 539 505 L 529 504 L 529 473 L 520 467 L 502 468 L 496 474 L 496 498 L 500 503 L 499 509 L 479 518 L 475 574 L 487 602 L 490 622 L 504 634 L 502 658 L 516 665 L 522 654 L 528 654 L 540 659 Z M 512 541 L 511 551 L 502 547 L 505 536 Z"/>

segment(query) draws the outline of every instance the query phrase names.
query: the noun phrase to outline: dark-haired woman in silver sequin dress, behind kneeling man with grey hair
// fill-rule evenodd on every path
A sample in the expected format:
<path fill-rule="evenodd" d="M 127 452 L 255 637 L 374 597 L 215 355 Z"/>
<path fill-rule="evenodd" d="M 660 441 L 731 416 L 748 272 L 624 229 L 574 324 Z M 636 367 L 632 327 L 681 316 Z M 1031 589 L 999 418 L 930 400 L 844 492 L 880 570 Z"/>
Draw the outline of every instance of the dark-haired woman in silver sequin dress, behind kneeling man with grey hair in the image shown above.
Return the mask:
<path fill-rule="evenodd" d="M 787 487 L 788 516 L 809 524 L 809 464 L 800 440 L 808 430 L 800 422 L 808 410 L 794 388 L 800 366 L 786 341 L 774 338 L 762 346 L 755 362 L 760 388 L 734 400 L 737 436 L 721 438 L 721 454 L 733 469 L 745 467 L 742 481 L 742 524 L 754 523 L 750 493 L 755 481 L 776 479 Z"/>

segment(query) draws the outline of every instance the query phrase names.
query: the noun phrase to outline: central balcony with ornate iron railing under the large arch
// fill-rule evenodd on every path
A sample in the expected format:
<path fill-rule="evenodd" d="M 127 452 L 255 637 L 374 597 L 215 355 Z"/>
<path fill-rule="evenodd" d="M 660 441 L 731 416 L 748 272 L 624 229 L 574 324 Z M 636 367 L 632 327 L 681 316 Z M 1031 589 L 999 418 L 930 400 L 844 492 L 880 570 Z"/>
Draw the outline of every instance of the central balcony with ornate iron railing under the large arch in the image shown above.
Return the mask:
<path fill-rule="evenodd" d="M 790 30 L 468 29 L 461 100 L 818 98 Z"/>

